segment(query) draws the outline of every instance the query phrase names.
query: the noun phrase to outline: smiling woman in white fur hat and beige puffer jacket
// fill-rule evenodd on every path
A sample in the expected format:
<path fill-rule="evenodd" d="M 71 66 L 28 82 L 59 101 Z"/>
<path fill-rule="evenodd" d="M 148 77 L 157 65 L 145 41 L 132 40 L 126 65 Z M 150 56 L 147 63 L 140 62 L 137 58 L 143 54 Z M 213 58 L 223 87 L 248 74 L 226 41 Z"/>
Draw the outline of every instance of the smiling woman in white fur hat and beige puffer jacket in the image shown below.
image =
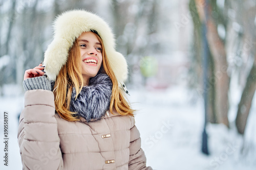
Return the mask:
<path fill-rule="evenodd" d="M 152 169 L 124 99 L 127 65 L 109 26 L 74 10 L 58 16 L 54 30 L 44 65 L 24 75 L 23 168 Z"/>

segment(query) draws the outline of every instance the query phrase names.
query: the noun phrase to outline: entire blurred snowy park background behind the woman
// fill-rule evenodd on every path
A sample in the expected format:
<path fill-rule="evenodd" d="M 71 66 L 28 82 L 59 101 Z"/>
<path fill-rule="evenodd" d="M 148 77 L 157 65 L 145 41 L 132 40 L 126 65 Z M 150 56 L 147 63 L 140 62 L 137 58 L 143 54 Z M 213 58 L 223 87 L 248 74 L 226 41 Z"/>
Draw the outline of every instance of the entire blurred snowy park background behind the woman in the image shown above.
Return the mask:
<path fill-rule="evenodd" d="M 148 165 L 255 169 L 256 0 L 0 0 L 1 138 L 10 116 L 10 161 L 0 167 L 22 169 L 24 72 L 44 60 L 55 16 L 71 9 L 113 28 Z"/>

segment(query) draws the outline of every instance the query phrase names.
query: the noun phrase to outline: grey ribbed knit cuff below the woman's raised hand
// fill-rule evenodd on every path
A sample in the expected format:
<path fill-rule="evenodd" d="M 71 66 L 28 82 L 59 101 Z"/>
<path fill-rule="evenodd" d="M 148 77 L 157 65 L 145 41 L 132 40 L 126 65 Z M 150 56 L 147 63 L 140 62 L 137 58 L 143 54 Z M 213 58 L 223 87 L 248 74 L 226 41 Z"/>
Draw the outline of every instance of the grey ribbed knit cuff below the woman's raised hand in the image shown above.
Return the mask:
<path fill-rule="evenodd" d="M 23 81 L 24 90 L 44 89 L 51 91 L 51 83 L 45 76 L 29 78 Z"/>

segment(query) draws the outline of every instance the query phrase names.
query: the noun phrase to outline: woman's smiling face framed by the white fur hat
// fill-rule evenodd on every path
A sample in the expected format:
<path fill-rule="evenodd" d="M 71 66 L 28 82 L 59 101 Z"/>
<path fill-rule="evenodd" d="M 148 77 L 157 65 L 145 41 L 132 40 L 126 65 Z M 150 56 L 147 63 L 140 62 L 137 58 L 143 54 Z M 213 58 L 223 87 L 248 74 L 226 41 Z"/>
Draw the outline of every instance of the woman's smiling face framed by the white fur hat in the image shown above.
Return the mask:
<path fill-rule="evenodd" d="M 93 32 L 84 32 L 78 37 L 81 55 L 81 67 L 84 83 L 88 84 L 91 77 L 95 77 L 102 63 L 102 47 Z"/>

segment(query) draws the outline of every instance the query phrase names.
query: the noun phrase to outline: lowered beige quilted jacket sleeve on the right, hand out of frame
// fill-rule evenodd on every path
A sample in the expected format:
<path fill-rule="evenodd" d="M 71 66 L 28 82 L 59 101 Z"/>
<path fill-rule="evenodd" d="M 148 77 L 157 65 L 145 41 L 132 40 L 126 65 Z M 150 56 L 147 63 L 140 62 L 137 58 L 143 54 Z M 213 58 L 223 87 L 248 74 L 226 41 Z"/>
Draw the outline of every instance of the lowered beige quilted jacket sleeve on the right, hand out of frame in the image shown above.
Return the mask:
<path fill-rule="evenodd" d="M 140 133 L 135 126 L 134 118 L 132 118 L 131 139 L 130 139 L 130 160 L 129 169 L 133 170 L 151 170 L 152 167 L 146 166 L 146 157 L 141 147 Z"/>

